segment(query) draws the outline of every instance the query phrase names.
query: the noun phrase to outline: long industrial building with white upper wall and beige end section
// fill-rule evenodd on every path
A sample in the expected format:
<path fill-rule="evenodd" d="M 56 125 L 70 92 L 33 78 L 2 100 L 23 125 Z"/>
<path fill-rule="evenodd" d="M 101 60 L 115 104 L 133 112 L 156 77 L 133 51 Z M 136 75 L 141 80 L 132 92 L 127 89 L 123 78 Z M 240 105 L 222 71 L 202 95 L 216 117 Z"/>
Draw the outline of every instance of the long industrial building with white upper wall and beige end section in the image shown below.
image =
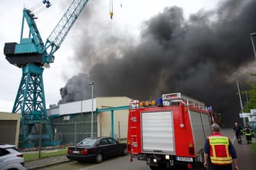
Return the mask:
<path fill-rule="evenodd" d="M 126 138 L 129 103 L 126 96 L 96 97 L 47 109 L 54 140 L 61 144 L 77 143 L 91 137 L 91 132 L 94 137 Z"/>

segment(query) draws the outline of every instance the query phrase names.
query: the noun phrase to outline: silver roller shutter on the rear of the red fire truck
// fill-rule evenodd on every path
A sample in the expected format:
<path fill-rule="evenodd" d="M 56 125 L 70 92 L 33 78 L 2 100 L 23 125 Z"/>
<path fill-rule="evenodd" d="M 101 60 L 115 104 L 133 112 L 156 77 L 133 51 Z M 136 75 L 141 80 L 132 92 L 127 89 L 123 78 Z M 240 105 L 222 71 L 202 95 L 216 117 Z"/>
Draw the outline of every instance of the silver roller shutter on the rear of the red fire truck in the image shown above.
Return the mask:
<path fill-rule="evenodd" d="M 142 112 L 142 152 L 174 153 L 173 114 Z"/>

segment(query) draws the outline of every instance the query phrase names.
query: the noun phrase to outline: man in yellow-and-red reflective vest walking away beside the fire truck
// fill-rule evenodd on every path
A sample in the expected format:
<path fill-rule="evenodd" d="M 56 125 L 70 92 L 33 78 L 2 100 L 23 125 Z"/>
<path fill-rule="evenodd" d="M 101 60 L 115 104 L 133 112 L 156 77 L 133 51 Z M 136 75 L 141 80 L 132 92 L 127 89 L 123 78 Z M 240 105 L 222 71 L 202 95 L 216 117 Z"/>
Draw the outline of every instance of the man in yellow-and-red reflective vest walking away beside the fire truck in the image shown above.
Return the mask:
<path fill-rule="evenodd" d="M 226 137 L 220 134 L 219 124 L 212 124 L 213 134 L 207 137 L 204 145 L 204 166 L 210 170 L 238 170 L 235 147 Z"/>

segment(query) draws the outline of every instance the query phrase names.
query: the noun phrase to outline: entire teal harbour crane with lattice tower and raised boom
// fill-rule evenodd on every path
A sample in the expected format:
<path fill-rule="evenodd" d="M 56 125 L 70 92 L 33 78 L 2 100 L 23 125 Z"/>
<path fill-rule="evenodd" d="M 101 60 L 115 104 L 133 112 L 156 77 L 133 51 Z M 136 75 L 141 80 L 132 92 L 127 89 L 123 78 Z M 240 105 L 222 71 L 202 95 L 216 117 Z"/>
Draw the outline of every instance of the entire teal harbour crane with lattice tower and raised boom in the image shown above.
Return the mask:
<path fill-rule="evenodd" d="M 45 1 L 43 1 L 45 2 Z M 49 1 L 47 1 L 49 2 Z M 46 39 L 46 43 L 40 36 L 32 11 L 23 10 L 21 25 L 21 40 L 6 42 L 4 54 L 12 64 L 22 69 L 21 83 L 14 101 L 13 113 L 21 114 L 21 132 L 19 146 L 34 146 L 33 140 L 39 135 L 38 127 L 43 122 L 43 142 L 46 145 L 54 145 L 50 120 L 46 115 L 46 102 L 43 90 L 43 68 L 49 68 L 53 63 L 53 53 L 61 46 L 75 20 L 82 13 L 88 0 L 73 0 L 66 13 Z M 50 4 L 47 3 L 47 4 Z M 46 8 L 49 8 L 50 5 Z M 24 38 L 24 24 L 27 23 L 29 34 Z M 31 142 L 32 141 L 32 142 Z"/>

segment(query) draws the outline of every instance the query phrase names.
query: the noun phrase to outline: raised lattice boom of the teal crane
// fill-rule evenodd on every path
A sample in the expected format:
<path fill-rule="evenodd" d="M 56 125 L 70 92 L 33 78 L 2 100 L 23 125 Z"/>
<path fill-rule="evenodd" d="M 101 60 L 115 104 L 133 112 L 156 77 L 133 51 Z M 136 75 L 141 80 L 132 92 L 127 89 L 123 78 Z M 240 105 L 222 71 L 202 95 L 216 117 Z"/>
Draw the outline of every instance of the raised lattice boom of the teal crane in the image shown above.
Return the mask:
<path fill-rule="evenodd" d="M 59 46 L 61 46 L 87 2 L 88 0 L 74 0 L 65 14 L 63 14 L 53 32 L 50 33 L 50 36 L 46 39 L 45 50 L 50 48 L 49 55 L 53 55 L 53 53 L 59 49 Z"/>

